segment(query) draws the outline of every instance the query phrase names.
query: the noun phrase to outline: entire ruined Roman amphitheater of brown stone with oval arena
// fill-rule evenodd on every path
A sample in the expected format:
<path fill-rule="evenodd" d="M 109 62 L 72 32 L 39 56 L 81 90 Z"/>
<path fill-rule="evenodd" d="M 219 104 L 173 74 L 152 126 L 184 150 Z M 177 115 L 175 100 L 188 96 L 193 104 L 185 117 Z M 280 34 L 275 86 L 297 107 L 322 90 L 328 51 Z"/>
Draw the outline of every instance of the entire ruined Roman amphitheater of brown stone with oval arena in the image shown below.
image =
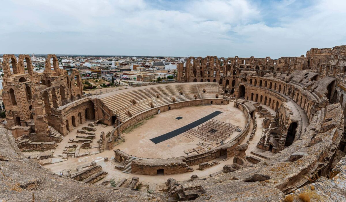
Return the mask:
<path fill-rule="evenodd" d="M 3 59 L 0 201 L 346 200 L 346 46 L 93 96 L 55 55 Z"/>

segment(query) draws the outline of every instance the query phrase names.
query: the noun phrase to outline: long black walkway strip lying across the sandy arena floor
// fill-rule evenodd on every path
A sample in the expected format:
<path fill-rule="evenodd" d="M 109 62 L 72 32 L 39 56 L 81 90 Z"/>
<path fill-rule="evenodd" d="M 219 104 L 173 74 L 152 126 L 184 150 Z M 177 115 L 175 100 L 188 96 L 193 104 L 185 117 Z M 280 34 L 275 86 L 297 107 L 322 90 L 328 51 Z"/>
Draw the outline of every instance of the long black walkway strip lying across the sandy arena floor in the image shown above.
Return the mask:
<path fill-rule="evenodd" d="M 158 136 L 156 138 L 152 138 L 150 140 L 152 142 L 154 142 L 155 144 L 157 144 L 157 143 L 166 141 L 168 139 L 174 138 L 175 136 L 180 135 L 181 133 L 184 133 L 186 130 L 188 130 L 190 128 L 197 127 L 197 126 L 201 125 L 202 123 L 207 122 L 208 120 L 214 118 L 215 116 L 217 116 L 217 115 L 219 115 L 221 113 L 222 112 L 220 112 L 220 111 L 215 111 L 215 112 L 213 112 L 213 113 L 211 113 L 211 114 L 209 114 L 207 116 L 204 116 L 203 118 L 200 118 L 197 121 L 194 121 L 194 122 L 192 122 L 192 123 L 190 123 L 188 125 L 185 125 L 185 126 L 183 126 L 181 128 L 178 128 L 178 129 L 176 129 L 174 131 L 171 131 L 169 133 L 160 135 L 160 136 Z"/>

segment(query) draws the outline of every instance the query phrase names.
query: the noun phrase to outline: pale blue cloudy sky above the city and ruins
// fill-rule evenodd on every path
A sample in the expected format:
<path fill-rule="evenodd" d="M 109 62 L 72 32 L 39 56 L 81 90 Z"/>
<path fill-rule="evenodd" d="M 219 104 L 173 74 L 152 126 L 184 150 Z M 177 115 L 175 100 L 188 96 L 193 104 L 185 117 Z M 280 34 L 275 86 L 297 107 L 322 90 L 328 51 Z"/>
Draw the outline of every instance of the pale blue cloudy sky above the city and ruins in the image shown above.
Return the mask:
<path fill-rule="evenodd" d="M 346 0 L 1 0 L 0 54 L 250 57 L 346 45 Z"/>

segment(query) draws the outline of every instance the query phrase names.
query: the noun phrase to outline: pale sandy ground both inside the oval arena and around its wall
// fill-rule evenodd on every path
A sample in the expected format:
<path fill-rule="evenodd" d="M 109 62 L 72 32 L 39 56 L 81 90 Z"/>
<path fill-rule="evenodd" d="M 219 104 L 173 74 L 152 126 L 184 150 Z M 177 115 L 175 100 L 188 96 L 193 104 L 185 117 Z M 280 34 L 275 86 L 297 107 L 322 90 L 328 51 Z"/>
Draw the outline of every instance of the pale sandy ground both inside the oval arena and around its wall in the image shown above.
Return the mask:
<path fill-rule="evenodd" d="M 145 120 L 143 124 L 135 126 L 132 129 L 128 129 L 128 133 L 123 133 L 122 136 L 125 137 L 125 142 L 118 144 L 114 149 L 121 149 L 130 155 L 137 157 L 146 158 L 171 158 L 178 156 L 186 156 L 183 152 L 186 149 L 191 149 L 197 147 L 201 139 L 197 137 L 186 138 L 183 134 L 180 134 L 174 138 L 166 140 L 164 142 L 155 144 L 150 139 L 180 128 L 186 124 L 198 120 L 212 112 L 221 111 L 220 115 L 214 117 L 215 120 L 219 120 L 226 123 L 231 123 L 244 129 L 246 125 L 246 117 L 242 111 L 238 108 L 233 107 L 233 103 L 228 105 L 203 105 L 203 106 L 193 106 L 184 107 L 181 109 L 174 109 L 171 111 L 163 112 L 161 114 L 154 115 L 153 117 Z M 181 120 L 177 120 L 176 117 L 183 117 Z M 257 120 L 258 121 L 258 120 Z M 81 129 L 83 126 L 88 125 L 91 121 L 83 123 L 73 129 L 62 142 L 58 143 L 58 147 L 54 151 L 53 164 L 45 165 L 44 167 L 52 170 L 54 173 L 60 173 L 62 170 L 71 169 L 75 171 L 77 166 L 88 164 L 91 161 L 96 161 L 97 165 L 102 166 L 102 170 L 108 172 L 108 175 L 95 184 L 100 184 L 104 180 L 114 179 L 115 181 L 120 181 L 123 178 L 130 179 L 133 176 L 138 176 L 140 182 L 143 183 L 144 189 L 152 189 L 155 191 L 162 190 L 165 187 L 165 182 L 168 178 L 173 177 L 177 181 L 185 181 L 190 179 L 191 175 L 196 174 L 198 177 L 208 177 L 210 174 L 221 172 L 222 167 L 227 164 L 232 164 L 233 158 L 223 161 L 225 156 L 218 159 L 219 164 L 204 170 L 198 170 L 198 165 L 191 166 L 194 170 L 193 172 L 178 174 L 178 175 L 164 175 L 164 176 L 147 176 L 138 174 L 126 174 L 122 173 L 121 170 L 115 169 L 115 165 L 120 165 L 114 160 L 114 151 L 108 150 L 107 145 L 104 147 L 103 152 L 99 152 L 97 140 L 100 138 L 101 131 L 107 133 L 113 129 L 113 126 L 102 127 L 101 124 L 97 126 L 96 139 L 91 143 L 91 149 L 83 149 L 80 152 L 91 151 L 91 155 L 84 156 L 80 158 L 69 158 L 67 160 L 62 159 L 62 152 L 70 138 L 75 138 L 77 135 L 77 129 Z M 138 122 L 141 123 L 141 122 Z M 137 123 L 137 124 L 138 124 Z M 135 124 L 136 125 L 136 124 Z M 257 125 L 258 127 L 258 125 Z M 132 130 L 132 131 L 131 131 Z M 257 129 L 258 130 L 258 129 Z M 231 138 L 235 137 L 238 132 L 233 133 Z M 255 145 L 255 143 L 254 143 Z M 105 162 L 104 157 L 108 157 L 109 161 Z M 211 163 L 210 161 L 209 163 Z"/>

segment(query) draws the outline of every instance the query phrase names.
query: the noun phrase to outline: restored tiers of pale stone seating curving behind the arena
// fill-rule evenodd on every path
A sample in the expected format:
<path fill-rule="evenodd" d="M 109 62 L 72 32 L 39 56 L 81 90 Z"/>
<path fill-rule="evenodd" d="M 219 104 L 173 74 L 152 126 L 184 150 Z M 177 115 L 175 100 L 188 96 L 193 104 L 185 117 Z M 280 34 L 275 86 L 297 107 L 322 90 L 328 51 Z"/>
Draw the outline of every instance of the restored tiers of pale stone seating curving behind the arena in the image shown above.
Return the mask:
<path fill-rule="evenodd" d="M 152 109 L 149 103 L 152 103 L 153 107 L 159 107 L 194 100 L 194 95 L 197 96 L 197 99 L 212 99 L 216 98 L 218 93 L 219 88 L 216 83 L 187 83 L 132 90 L 105 97 L 102 102 L 121 120 L 125 121 L 130 118 L 127 112 L 130 112 L 133 117 Z M 222 96 L 219 98 L 222 99 Z M 133 100 L 135 100 L 135 104 Z"/>

